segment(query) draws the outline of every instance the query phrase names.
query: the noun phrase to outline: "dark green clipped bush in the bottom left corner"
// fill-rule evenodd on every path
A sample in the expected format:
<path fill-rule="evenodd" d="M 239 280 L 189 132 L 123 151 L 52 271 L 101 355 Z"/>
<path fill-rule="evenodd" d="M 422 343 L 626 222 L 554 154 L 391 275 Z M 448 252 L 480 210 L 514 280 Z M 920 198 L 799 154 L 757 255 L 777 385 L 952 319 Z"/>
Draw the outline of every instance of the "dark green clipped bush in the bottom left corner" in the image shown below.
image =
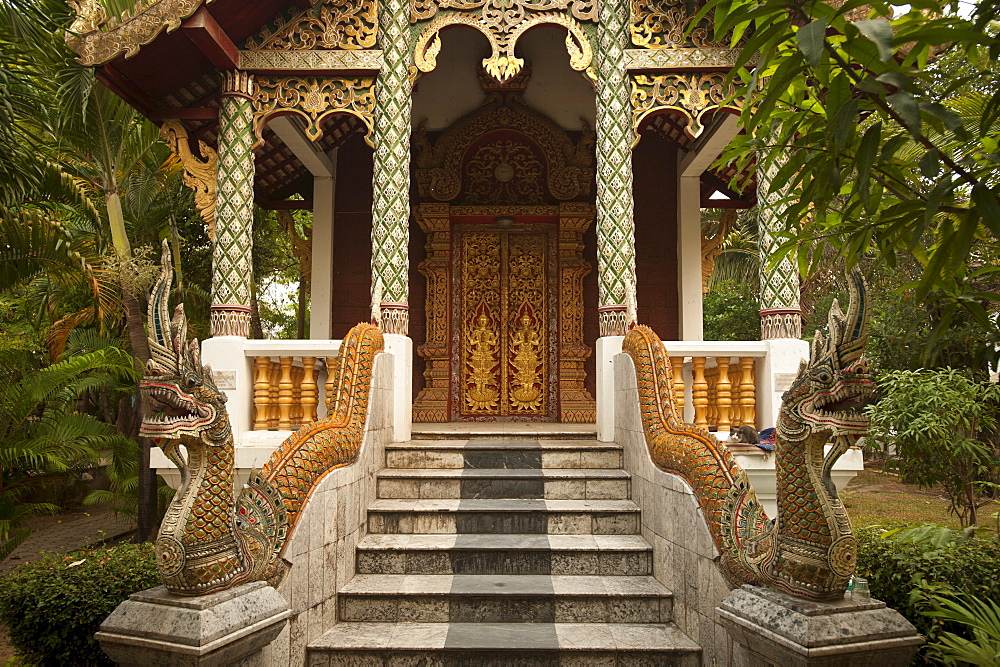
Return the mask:
<path fill-rule="evenodd" d="M 150 544 L 49 555 L 0 579 L 0 621 L 29 662 L 110 665 L 94 633 L 130 594 L 159 583 Z"/>

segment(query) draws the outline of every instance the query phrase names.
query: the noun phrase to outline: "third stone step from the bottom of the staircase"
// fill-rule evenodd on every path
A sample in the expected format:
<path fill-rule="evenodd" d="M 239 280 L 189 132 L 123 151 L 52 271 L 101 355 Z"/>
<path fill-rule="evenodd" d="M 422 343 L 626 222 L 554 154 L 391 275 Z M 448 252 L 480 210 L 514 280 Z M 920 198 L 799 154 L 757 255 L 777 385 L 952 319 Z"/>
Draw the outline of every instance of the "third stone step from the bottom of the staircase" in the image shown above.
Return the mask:
<path fill-rule="evenodd" d="M 652 574 L 640 535 L 374 535 L 358 574 Z"/>

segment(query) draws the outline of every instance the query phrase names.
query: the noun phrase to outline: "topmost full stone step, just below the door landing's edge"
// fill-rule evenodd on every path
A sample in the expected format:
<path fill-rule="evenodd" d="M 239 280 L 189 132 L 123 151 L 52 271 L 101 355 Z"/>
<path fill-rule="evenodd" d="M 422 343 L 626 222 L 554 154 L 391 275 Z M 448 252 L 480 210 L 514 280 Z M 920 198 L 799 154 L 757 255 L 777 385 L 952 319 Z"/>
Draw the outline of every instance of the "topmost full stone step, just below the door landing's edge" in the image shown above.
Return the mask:
<path fill-rule="evenodd" d="M 387 468 L 621 468 L 621 447 L 596 440 L 434 440 L 386 445 Z"/>

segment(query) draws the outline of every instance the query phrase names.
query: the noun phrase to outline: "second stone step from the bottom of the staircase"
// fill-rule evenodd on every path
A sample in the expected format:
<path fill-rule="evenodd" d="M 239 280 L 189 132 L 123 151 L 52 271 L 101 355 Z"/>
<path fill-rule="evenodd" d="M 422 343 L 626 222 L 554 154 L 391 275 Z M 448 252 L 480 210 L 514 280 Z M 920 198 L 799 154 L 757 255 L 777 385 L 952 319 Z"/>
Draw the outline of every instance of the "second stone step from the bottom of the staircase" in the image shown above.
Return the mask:
<path fill-rule="evenodd" d="M 670 591 L 649 576 L 359 574 L 341 621 L 667 623 Z"/>

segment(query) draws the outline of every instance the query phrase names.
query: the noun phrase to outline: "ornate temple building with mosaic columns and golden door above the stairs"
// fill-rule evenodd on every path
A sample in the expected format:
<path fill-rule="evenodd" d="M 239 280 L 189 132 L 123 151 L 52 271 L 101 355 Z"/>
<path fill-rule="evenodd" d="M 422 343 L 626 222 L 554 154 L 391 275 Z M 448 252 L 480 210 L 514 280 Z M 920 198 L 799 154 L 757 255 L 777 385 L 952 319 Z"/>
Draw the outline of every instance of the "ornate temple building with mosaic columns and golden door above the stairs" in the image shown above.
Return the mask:
<path fill-rule="evenodd" d="M 603 344 L 702 339 L 700 209 L 756 196 L 711 168 L 736 50 L 686 34 L 694 6 L 78 4 L 70 45 L 198 193 L 213 338 L 250 335 L 256 205 L 312 211 L 311 340 L 373 319 L 412 345 L 415 422 L 593 423 Z M 764 276 L 764 339 L 798 336 L 797 299 Z"/>

